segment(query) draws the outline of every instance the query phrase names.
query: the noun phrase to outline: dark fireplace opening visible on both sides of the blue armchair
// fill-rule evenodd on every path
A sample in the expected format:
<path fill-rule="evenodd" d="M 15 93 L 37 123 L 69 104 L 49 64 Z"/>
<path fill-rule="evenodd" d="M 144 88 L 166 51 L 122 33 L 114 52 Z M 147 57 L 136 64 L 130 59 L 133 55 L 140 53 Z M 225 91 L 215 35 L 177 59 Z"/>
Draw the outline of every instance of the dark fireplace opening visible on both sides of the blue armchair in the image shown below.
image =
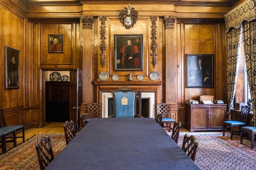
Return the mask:
<path fill-rule="evenodd" d="M 139 100 L 136 101 L 136 113 L 139 113 Z M 108 98 L 108 115 L 113 115 L 113 98 Z M 149 99 L 141 99 L 141 116 L 149 117 Z"/>

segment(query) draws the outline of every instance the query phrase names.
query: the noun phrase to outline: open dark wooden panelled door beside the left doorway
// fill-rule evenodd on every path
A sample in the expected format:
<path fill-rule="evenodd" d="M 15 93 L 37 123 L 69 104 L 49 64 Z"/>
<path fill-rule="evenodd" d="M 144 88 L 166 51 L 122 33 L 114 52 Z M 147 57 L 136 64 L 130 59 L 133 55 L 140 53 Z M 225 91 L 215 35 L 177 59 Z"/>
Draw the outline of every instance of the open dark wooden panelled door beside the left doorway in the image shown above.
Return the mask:
<path fill-rule="evenodd" d="M 69 119 L 74 122 L 76 132 L 78 132 L 78 68 L 70 70 L 70 95 L 69 95 Z"/>

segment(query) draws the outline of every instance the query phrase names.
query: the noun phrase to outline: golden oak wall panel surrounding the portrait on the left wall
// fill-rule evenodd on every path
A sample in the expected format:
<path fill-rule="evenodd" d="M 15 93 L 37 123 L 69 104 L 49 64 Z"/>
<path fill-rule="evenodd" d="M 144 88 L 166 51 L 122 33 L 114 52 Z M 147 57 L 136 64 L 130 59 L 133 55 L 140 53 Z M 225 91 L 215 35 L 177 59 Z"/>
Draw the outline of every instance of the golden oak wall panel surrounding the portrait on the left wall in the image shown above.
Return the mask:
<path fill-rule="evenodd" d="M 24 104 L 24 20 L 0 6 L 0 108 L 11 108 Z M 10 29 L 11 28 L 11 29 Z M 4 89 L 4 46 L 20 50 L 20 88 Z"/>

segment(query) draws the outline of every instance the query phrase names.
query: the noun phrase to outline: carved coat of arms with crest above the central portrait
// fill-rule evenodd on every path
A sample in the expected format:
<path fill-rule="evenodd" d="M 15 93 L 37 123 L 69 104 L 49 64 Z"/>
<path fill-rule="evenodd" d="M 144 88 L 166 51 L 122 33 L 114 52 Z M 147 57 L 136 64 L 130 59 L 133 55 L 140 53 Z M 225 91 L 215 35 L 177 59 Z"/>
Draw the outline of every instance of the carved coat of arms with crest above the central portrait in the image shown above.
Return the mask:
<path fill-rule="evenodd" d="M 134 8 L 131 8 L 130 4 L 128 8 L 124 7 L 124 9 L 119 12 L 121 23 L 126 29 L 130 29 L 134 24 L 136 24 L 138 16 L 139 12 L 135 11 Z"/>

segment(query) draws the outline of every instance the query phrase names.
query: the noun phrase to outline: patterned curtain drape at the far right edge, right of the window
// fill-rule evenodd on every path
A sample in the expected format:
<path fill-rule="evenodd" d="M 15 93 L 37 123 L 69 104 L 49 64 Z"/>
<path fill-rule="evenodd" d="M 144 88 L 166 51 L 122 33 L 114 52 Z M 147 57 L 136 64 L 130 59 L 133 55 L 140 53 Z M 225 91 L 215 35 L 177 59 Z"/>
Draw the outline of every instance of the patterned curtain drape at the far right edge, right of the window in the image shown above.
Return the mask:
<path fill-rule="evenodd" d="M 242 25 L 245 63 L 254 113 L 252 125 L 256 126 L 256 19 L 244 21 Z"/>

